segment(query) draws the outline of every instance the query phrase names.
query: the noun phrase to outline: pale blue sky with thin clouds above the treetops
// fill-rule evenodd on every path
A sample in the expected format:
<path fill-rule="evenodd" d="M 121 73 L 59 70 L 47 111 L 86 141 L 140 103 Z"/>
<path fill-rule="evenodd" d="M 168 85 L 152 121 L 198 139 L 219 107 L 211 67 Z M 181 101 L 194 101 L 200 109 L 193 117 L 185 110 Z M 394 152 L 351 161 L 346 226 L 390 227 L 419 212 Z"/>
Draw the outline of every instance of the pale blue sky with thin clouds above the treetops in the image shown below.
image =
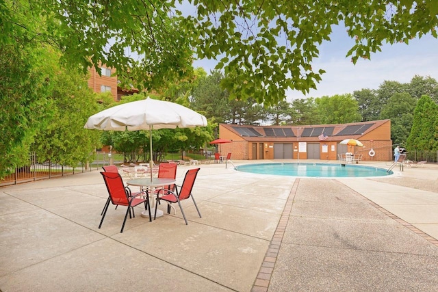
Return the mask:
<path fill-rule="evenodd" d="M 413 39 L 409 44 L 385 44 L 381 52 L 372 54 L 371 59 L 359 59 L 352 64 L 346 57 L 354 45 L 344 27 L 335 27 L 331 42 L 323 42 L 320 56 L 313 59 L 313 70 L 324 69 L 322 81 L 317 90 L 304 95 L 298 91 L 287 91 L 287 101 L 296 98 L 352 94 L 365 88 L 374 90 L 384 81 L 409 83 L 415 75 L 432 77 L 438 81 L 438 40 L 432 36 Z M 206 72 L 214 69 L 215 61 L 198 60 L 194 67 L 203 67 Z"/>

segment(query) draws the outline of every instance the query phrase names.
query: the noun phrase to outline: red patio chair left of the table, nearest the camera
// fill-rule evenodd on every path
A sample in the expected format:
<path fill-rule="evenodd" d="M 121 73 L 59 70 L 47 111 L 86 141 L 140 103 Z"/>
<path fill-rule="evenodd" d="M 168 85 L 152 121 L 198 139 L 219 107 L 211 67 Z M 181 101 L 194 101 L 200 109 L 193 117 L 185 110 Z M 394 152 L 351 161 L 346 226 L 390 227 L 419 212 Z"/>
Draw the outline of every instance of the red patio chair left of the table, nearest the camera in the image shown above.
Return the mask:
<path fill-rule="evenodd" d="M 123 233 L 123 228 L 125 228 L 126 219 L 129 213 L 129 218 L 136 217 L 134 213 L 133 207 L 138 206 L 139 204 L 144 203 L 144 208 L 149 209 L 149 221 L 151 221 L 151 208 L 149 206 L 149 196 L 146 191 L 141 191 L 140 193 L 129 196 L 130 191 L 128 191 L 127 187 L 123 185 L 122 176 L 118 173 L 114 172 L 101 172 L 103 176 L 103 180 L 105 181 L 105 185 L 107 186 L 108 194 L 110 194 L 110 201 L 112 204 L 116 206 L 122 205 L 126 206 L 127 211 L 125 214 L 125 219 L 123 220 L 122 229 L 120 229 L 120 233 Z M 142 196 L 143 198 L 140 198 Z M 101 228 L 103 219 L 105 219 L 105 215 L 107 213 L 108 207 L 110 204 L 105 204 L 105 208 L 103 211 L 103 216 L 101 220 L 101 224 L 99 224 L 99 228 Z M 131 215 L 132 209 L 132 215 Z"/>

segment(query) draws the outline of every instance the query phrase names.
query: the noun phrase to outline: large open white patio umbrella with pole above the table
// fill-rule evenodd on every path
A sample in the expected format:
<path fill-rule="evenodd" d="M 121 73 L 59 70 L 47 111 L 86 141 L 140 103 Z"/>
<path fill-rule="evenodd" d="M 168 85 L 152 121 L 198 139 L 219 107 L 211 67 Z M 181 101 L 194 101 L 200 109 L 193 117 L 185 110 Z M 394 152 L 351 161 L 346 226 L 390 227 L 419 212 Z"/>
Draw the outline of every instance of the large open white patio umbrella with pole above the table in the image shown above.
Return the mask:
<path fill-rule="evenodd" d="M 169 101 L 146 98 L 110 107 L 88 118 L 85 129 L 105 131 L 149 130 L 152 169 L 152 129 L 194 128 L 207 126 L 205 116 Z M 151 172 L 152 179 L 152 172 Z"/>

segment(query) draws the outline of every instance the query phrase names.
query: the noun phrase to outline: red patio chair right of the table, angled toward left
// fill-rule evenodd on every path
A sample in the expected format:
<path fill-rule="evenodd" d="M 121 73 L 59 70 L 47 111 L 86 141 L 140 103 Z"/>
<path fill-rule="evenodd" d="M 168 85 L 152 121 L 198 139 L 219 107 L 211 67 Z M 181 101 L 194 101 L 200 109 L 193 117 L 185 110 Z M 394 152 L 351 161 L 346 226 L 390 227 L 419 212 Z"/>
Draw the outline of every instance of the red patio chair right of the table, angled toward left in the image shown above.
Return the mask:
<path fill-rule="evenodd" d="M 199 212 L 198 205 L 196 205 L 196 202 L 193 198 L 192 189 L 194 185 L 194 180 L 196 179 L 196 176 L 198 175 L 198 171 L 200 168 L 195 168 L 193 170 L 188 170 L 188 172 L 185 173 L 184 181 L 181 187 L 177 186 L 175 188 L 175 191 L 168 191 L 168 194 L 165 194 L 164 196 L 157 196 L 157 204 L 159 201 L 164 200 L 168 203 L 167 207 L 167 213 L 170 214 L 170 204 L 172 203 L 178 203 L 179 209 L 181 209 L 181 214 L 183 214 L 185 225 L 188 225 L 187 219 L 185 218 L 185 214 L 183 211 L 183 207 L 181 206 L 181 201 L 192 198 L 194 207 L 196 207 L 196 211 L 198 211 L 198 215 L 201 217 L 201 212 Z M 179 187 L 179 191 L 178 191 Z M 162 191 L 162 190 L 159 190 Z M 155 215 L 153 216 L 153 219 L 155 220 L 155 217 L 157 216 L 157 208 L 155 208 Z"/>

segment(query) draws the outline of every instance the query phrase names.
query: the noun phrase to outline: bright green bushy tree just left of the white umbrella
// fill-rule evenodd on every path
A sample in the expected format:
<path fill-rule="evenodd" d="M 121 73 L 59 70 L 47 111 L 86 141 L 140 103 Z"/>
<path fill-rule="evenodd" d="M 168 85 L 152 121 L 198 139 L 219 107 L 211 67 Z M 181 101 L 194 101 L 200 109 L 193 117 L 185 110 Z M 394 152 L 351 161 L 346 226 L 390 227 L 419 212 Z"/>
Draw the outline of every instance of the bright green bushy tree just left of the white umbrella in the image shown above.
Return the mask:
<path fill-rule="evenodd" d="M 99 97 L 88 88 L 86 76 L 75 71 L 60 70 L 51 82 L 53 92 L 48 100 L 53 114 L 31 148 L 41 162 L 51 160 L 73 167 L 86 163 L 100 144 L 100 133 L 83 129 L 83 125 L 98 111 Z"/>

